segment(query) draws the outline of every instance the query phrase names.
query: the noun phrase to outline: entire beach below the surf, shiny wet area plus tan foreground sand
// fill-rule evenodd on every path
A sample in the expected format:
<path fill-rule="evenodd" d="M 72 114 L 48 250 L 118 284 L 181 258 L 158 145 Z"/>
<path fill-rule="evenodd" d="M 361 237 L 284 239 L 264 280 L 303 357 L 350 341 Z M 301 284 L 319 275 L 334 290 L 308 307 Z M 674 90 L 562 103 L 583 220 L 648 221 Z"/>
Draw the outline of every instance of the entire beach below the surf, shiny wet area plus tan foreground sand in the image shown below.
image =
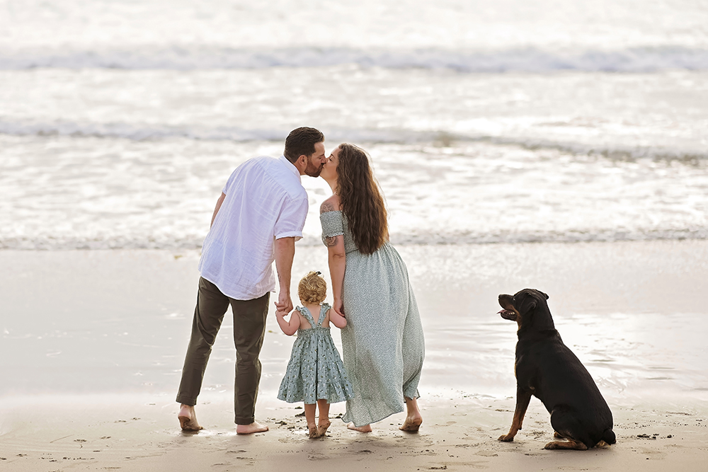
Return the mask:
<path fill-rule="evenodd" d="M 702 303 L 708 241 L 401 246 L 421 308 L 424 422 L 404 414 L 371 434 L 332 405 L 326 437 L 307 438 L 302 407 L 275 399 L 293 338 L 275 317 L 261 355 L 256 418 L 236 435 L 235 353 L 227 315 L 207 367 L 198 419 L 174 402 L 191 323 L 198 251 L 0 251 L 0 468 L 8 471 L 704 470 L 708 376 Z M 326 251 L 298 246 L 293 284 L 326 273 Z M 549 294 L 556 328 L 598 383 L 617 444 L 546 451 L 549 415 L 532 399 L 512 443 L 497 437 L 515 405 L 515 324 L 496 298 Z M 295 291 L 294 291 L 295 293 Z M 335 342 L 340 346 L 338 333 Z"/>

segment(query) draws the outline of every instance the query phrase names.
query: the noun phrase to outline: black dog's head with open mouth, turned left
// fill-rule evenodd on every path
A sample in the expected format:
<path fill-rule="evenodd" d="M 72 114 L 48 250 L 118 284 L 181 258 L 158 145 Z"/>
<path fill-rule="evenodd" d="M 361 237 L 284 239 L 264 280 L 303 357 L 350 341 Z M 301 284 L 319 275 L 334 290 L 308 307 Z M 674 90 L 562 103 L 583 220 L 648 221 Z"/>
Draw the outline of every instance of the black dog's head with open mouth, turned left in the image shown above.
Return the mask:
<path fill-rule="evenodd" d="M 523 289 L 514 295 L 499 295 L 502 318 L 516 321 L 519 331 L 546 331 L 555 329 L 546 300 L 548 295 L 536 289 Z"/>

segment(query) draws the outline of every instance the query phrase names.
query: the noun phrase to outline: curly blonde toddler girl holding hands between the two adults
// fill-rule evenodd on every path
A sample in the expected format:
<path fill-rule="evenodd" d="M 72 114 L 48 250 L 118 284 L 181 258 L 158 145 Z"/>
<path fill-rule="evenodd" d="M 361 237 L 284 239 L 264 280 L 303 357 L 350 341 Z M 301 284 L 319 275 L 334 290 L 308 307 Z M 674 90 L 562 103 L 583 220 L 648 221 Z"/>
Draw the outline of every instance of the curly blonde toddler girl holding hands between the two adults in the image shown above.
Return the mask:
<path fill-rule="evenodd" d="M 329 322 L 344 328 L 347 321 L 322 304 L 327 295 L 327 282 L 319 272 L 309 272 L 297 286 L 303 306 L 290 313 L 290 321 L 278 315 L 278 325 L 288 336 L 297 331 L 290 362 L 280 383 L 278 398 L 288 403 L 304 401 L 309 437 L 323 436 L 330 425 L 329 404 L 354 397 L 349 377 L 339 352 L 329 334 Z M 315 425 L 315 408 L 319 406 L 319 425 Z"/>

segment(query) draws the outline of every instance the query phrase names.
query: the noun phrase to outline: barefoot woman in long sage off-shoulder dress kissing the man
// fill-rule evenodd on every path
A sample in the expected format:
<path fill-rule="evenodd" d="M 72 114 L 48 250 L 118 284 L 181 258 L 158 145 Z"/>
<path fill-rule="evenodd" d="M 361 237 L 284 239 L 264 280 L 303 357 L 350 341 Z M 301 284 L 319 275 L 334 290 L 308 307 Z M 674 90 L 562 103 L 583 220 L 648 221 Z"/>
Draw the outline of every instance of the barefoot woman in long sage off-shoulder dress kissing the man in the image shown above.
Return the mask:
<path fill-rule="evenodd" d="M 400 429 L 417 431 L 423 327 L 406 265 L 388 242 L 384 199 L 366 153 L 352 144 L 332 151 L 320 176 L 334 194 L 322 203 L 320 221 L 333 309 L 347 319 L 343 360 L 355 395 L 342 419 L 370 432 L 372 422 L 403 411 L 405 400 Z"/>

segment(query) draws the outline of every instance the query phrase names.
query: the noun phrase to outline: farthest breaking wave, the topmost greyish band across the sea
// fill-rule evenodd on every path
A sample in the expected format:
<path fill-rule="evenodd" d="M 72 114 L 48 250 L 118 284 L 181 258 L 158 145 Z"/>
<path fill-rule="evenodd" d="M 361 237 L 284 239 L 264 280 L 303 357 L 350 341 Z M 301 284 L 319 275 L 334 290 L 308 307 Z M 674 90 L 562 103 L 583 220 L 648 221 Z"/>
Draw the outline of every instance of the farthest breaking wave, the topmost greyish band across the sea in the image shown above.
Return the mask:
<path fill-rule="evenodd" d="M 346 47 L 144 47 L 135 50 L 16 50 L 0 53 L 0 69 L 262 69 L 357 64 L 392 69 L 452 69 L 460 72 L 708 70 L 708 50 L 683 46 L 633 47 L 626 50 L 551 52 L 537 48 L 501 51 L 360 50 Z"/>

